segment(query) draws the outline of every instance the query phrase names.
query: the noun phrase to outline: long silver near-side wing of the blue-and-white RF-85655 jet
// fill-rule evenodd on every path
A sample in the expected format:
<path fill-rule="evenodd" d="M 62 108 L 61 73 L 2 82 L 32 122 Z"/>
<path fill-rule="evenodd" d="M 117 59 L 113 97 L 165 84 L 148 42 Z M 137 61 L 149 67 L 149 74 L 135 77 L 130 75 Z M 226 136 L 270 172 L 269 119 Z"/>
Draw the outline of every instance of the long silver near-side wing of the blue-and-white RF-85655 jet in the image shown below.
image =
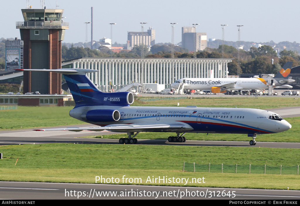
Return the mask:
<path fill-rule="evenodd" d="M 193 128 L 184 123 L 171 123 L 171 124 L 155 124 L 155 125 L 107 125 L 104 127 L 81 127 L 81 128 L 60 128 L 60 129 L 35 129 L 34 131 L 75 131 L 82 130 L 88 131 L 113 131 L 113 132 L 139 132 L 139 131 L 188 131 Z"/>

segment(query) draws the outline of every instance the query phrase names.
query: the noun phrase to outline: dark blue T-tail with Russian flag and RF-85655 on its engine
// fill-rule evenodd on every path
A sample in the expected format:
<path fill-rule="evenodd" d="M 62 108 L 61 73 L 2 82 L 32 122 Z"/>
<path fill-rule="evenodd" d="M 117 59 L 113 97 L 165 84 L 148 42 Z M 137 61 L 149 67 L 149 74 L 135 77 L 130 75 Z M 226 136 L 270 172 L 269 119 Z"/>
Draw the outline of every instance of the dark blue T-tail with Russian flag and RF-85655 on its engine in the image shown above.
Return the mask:
<path fill-rule="evenodd" d="M 88 105 L 129 106 L 134 101 L 130 92 L 104 93 L 86 76 L 92 69 L 16 69 L 21 71 L 57 72 L 64 75 L 76 103 L 75 107 Z"/>

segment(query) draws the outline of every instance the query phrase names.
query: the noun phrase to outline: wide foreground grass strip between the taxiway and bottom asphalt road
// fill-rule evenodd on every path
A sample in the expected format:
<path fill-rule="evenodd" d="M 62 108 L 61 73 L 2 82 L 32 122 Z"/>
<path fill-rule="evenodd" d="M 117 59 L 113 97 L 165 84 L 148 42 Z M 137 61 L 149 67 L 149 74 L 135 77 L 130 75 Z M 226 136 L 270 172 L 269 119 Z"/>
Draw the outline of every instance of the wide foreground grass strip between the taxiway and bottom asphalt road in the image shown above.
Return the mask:
<path fill-rule="evenodd" d="M 125 184 L 125 175 L 140 178 L 137 184 L 142 185 L 300 190 L 299 175 L 182 172 L 183 162 L 295 166 L 299 160 L 291 157 L 298 157 L 299 149 L 40 144 L 1 146 L 0 150 L 1 181 L 95 183 L 95 177 L 102 175 L 105 179 L 119 178 Z M 204 177 L 205 183 L 154 184 L 146 182 L 148 176 Z"/>

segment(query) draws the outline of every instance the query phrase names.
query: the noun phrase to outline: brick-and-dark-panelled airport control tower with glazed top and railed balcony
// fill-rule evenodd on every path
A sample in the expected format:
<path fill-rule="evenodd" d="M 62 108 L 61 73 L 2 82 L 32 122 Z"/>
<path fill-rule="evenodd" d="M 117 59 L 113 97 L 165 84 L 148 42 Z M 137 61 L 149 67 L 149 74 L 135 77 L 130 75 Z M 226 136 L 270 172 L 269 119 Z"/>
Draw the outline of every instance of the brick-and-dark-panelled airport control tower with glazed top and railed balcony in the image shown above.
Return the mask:
<path fill-rule="evenodd" d="M 61 68 L 61 41 L 68 22 L 62 9 L 22 9 L 24 21 L 16 22 L 24 41 L 24 69 Z M 55 72 L 24 72 L 24 93 L 60 94 L 61 75 Z"/>

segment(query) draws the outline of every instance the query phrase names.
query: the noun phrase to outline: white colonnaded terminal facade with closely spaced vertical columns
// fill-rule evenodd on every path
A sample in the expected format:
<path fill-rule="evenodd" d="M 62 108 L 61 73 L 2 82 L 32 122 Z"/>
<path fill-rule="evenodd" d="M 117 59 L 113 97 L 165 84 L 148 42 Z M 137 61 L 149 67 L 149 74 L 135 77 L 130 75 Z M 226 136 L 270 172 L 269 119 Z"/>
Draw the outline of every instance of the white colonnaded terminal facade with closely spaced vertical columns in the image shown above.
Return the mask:
<path fill-rule="evenodd" d="M 133 82 L 165 84 L 181 78 L 226 78 L 232 59 L 217 58 L 81 58 L 64 61 L 63 68 L 95 69 L 88 77 L 100 90 L 108 91 Z M 142 72 L 143 68 L 143 72 Z"/>

